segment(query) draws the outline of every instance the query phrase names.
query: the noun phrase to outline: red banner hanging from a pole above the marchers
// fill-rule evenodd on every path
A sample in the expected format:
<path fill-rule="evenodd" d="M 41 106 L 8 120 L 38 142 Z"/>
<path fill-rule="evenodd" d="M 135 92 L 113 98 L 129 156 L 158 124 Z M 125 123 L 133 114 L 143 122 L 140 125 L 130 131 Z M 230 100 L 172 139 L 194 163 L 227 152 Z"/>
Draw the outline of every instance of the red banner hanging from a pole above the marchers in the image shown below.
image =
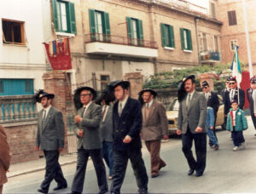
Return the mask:
<path fill-rule="evenodd" d="M 44 46 L 48 55 L 49 64 L 53 70 L 72 69 L 69 40 L 67 37 L 44 43 Z"/>

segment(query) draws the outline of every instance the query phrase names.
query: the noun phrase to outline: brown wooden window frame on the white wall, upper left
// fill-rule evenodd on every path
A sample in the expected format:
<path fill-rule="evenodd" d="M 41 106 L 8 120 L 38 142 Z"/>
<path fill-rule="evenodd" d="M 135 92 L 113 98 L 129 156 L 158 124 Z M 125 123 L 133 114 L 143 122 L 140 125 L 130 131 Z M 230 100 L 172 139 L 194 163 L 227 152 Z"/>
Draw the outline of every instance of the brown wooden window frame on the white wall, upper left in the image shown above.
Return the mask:
<path fill-rule="evenodd" d="M 16 26 L 17 24 L 20 25 L 20 40 L 21 40 L 21 43 L 15 43 L 14 31 L 13 31 L 13 27 L 11 27 L 12 42 L 6 41 L 5 35 L 4 35 L 4 32 L 3 32 L 3 43 L 4 44 L 13 44 L 13 45 L 26 45 L 26 43 L 25 43 L 25 29 L 24 29 L 25 22 L 24 21 L 18 21 L 18 20 L 2 19 L 2 30 L 3 30 L 3 21 L 16 23 L 15 25 L 13 24 L 12 26 Z"/>

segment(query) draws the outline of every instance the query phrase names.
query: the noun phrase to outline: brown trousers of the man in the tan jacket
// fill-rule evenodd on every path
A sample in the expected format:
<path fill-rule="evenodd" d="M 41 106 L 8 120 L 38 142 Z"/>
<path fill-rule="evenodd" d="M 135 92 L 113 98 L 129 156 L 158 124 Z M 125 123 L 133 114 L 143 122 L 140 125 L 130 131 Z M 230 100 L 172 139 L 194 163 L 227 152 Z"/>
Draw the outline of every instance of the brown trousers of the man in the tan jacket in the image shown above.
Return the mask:
<path fill-rule="evenodd" d="M 161 140 L 148 140 L 145 145 L 150 153 L 151 174 L 158 174 L 159 169 L 166 166 L 165 161 L 160 158 Z"/>

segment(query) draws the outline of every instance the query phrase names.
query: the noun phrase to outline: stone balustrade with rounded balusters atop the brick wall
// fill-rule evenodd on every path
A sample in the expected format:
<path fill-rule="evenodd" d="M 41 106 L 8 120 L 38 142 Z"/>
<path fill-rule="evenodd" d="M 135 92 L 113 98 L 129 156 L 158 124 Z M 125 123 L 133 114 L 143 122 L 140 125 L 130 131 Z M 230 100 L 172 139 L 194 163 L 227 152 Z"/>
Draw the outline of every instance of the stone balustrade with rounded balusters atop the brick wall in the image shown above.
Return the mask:
<path fill-rule="evenodd" d="M 37 112 L 32 95 L 0 96 L 0 123 L 33 121 Z"/>

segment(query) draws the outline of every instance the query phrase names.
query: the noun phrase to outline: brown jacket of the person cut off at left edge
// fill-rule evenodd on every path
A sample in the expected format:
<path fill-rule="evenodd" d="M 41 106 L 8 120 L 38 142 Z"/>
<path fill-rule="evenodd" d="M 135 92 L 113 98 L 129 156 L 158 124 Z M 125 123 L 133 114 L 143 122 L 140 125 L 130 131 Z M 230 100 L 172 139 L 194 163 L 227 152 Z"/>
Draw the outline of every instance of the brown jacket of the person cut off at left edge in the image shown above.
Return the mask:
<path fill-rule="evenodd" d="M 9 144 L 3 126 L 0 125 L 0 185 L 7 182 L 6 171 L 10 165 Z"/>

